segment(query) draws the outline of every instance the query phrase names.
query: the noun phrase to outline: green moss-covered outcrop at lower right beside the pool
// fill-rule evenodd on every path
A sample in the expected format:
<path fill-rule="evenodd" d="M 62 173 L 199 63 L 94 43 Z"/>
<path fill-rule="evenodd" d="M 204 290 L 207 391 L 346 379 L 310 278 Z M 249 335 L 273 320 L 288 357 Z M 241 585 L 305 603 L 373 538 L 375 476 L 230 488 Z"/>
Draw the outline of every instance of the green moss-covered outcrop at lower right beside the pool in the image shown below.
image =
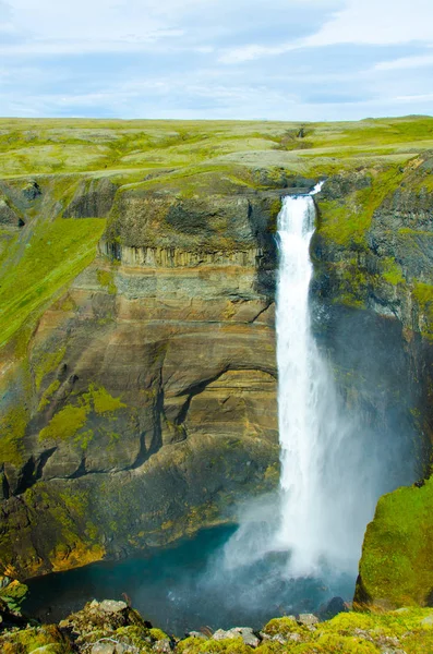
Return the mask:
<path fill-rule="evenodd" d="M 433 589 L 433 477 L 378 500 L 365 533 L 356 598 L 425 605 Z"/>

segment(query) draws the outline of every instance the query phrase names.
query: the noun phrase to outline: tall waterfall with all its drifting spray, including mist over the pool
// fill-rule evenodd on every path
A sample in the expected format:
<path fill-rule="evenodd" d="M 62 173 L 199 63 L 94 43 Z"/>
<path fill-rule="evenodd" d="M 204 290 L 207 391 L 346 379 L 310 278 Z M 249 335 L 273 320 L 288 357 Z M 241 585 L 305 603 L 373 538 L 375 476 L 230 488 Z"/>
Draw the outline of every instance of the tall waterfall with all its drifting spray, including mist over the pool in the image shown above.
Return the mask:
<path fill-rule="evenodd" d="M 239 507 L 238 529 L 209 561 L 201 585 L 227 611 L 228 625 L 233 615 L 254 615 L 260 622 L 258 616 L 302 610 L 305 601 L 314 610 L 336 595 L 351 600 L 377 498 L 413 479 L 409 441 L 398 443 L 394 429 L 383 428 L 385 416 L 374 413 L 362 395 L 364 379 L 357 378 L 350 353 L 375 353 L 362 347 L 363 323 L 358 316 L 348 329 L 345 310 L 336 317 L 326 303 L 310 302 L 317 191 L 285 197 L 278 216 L 279 489 Z M 341 315 L 346 327 L 338 331 Z M 337 330 L 327 331 L 322 344 L 313 318 L 314 326 Z M 339 355 L 335 346 L 342 348 Z M 376 388 L 374 374 L 369 382 Z"/>

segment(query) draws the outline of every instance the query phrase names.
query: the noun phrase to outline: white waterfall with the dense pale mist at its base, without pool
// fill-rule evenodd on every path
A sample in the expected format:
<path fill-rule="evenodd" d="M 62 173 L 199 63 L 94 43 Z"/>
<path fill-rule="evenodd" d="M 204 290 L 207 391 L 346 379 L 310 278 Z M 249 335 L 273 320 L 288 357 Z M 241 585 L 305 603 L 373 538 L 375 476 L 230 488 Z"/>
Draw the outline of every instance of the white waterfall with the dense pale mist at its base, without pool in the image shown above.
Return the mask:
<path fill-rule="evenodd" d="M 376 432 L 337 392 L 335 371 L 312 334 L 312 196 L 320 187 L 285 197 L 278 216 L 279 494 L 246 505 L 224 547 L 224 569 L 248 569 L 277 554 L 288 562 L 269 564 L 274 579 L 334 583 L 348 574 L 354 583 L 365 525 L 378 496 L 392 488 L 393 457 L 386 459 Z"/>

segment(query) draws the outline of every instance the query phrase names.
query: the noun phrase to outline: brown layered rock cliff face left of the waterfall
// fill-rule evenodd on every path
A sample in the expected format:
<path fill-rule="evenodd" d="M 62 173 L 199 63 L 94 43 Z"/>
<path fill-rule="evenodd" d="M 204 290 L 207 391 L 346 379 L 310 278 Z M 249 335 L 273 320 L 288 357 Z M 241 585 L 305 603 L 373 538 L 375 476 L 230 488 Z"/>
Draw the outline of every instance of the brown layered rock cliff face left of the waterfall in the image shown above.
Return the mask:
<path fill-rule="evenodd" d="M 63 204 L 110 211 L 99 254 L 3 358 L 0 549 L 25 577 L 232 520 L 278 479 L 278 194 L 112 187 Z"/>

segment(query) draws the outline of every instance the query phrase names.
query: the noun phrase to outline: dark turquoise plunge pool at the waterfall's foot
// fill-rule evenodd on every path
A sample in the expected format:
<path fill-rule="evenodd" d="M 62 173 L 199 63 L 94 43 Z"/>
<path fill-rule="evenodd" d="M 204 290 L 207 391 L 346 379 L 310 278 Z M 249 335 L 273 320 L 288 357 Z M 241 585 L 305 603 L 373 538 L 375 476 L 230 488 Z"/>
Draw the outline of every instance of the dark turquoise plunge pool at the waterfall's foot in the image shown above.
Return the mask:
<path fill-rule="evenodd" d="M 272 553 L 227 571 L 222 547 L 236 528 L 215 528 L 146 558 L 93 564 L 31 580 L 24 610 L 57 621 L 96 600 L 123 593 L 155 626 L 182 637 L 202 627 L 262 627 L 268 619 L 314 611 L 335 595 L 351 600 L 352 578 L 287 579 L 288 555 Z"/>

